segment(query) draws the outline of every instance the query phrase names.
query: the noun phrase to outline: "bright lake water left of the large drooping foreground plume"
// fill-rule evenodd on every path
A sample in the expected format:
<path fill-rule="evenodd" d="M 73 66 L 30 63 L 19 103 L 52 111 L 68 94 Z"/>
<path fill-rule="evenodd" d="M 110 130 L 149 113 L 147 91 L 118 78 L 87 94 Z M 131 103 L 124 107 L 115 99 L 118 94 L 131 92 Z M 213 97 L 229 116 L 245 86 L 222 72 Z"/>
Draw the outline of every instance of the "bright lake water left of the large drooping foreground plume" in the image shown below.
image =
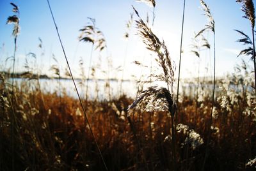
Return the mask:
<path fill-rule="evenodd" d="M 86 80 L 83 82 L 83 86 L 81 85 L 81 80 L 76 79 L 76 86 L 79 92 L 79 95 L 84 98 L 86 93 Z M 10 81 L 11 82 L 11 81 Z M 15 82 L 22 88 L 22 85 L 27 84 L 31 89 L 35 89 L 37 86 L 36 80 L 25 80 L 22 78 L 15 78 Z M 39 80 L 40 87 L 42 92 L 44 93 L 54 93 L 57 94 L 67 94 L 68 96 L 72 96 L 77 98 L 76 89 L 74 87 L 74 83 L 70 79 L 48 79 L 42 78 Z M 93 100 L 95 98 L 99 98 L 100 100 L 105 100 L 109 98 L 109 91 L 111 94 L 111 98 L 120 96 L 120 81 L 110 80 L 109 87 L 106 86 L 106 80 L 89 80 L 88 81 L 88 98 Z M 122 82 L 122 93 L 127 94 L 127 96 L 134 98 L 136 96 L 137 87 L 136 82 L 132 82 L 129 80 L 124 80 Z"/>

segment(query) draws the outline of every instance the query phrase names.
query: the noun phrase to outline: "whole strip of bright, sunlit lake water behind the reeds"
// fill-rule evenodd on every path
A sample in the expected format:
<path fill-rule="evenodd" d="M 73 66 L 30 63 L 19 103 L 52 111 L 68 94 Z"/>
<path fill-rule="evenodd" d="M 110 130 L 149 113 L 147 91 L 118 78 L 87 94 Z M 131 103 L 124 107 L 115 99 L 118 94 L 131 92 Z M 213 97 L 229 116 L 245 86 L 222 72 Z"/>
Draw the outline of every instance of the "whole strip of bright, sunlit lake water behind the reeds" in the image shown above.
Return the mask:
<path fill-rule="evenodd" d="M 12 82 L 10 80 L 10 82 Z M 22 88 L 23 84 L 27 84 L 31 89 L 35 89 L 38 85 L 36 80 L 26 80 L 22 78 L 15 78 L 15 82 L 17 85 Z M 74 83 L 70 79 L 60 79 L 60 81 L 56 78 L 42 78 L 39 80 L 40 87 L 42 92 L 44 93 L 57 93 L 62 94 L 65 93 L 68 96 L 72 96 L 77 98 L 76 89 L 74 88 Z M 110 86 L 106 86 L 106 80 L 89 80 L 88 82 L 88 99 L 94 100 L 97 98 L 98 100 L 108 100 L 109 99 L 109 91 L 111 94 L 111 98 L 115 98 L 120 96 L 120 81 L 110 80 Z M 84 85 L 81 86 L 81 80 L 76 80 L 77 89 L 82 98 L 85 97 L 86 92 L 86 80 L 84 81 Z M 156 82 L 151 85 L 159 85 L 161 87 L 165 87 L 163 82 Z M 147 87 L 145 85 L 144 87 Z M 212 84 L 204 84 L 204 92 L 208 93 L 211 96 L 212 93 Z M 145 89 L 145 88 L 144 88 Z M 202 87 L 200 87 L 202 89 Z M 127 95 L 128 97 L 135 98 L 138 90 L 138 84 L 135 81 L 125 80 L 122 82 L 122 93 Z M 176 93 L 176 82 L 173 85 L 173 91 Z M 220 89 L 216 85 L 216 96 L 220 93 Z M 190 97 L 196 96 L 196 82 L 193 83 L 180 83 L 180 96 L 186 94 Z"/>

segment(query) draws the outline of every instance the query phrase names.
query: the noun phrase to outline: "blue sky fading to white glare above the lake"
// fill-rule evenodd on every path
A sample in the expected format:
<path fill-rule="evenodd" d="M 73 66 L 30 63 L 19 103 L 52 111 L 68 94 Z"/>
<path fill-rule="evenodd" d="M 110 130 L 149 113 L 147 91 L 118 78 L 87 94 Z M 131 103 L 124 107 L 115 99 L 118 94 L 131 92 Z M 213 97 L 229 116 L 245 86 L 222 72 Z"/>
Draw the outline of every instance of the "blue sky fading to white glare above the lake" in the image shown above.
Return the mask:
<path fill-rule="evenodd" d="M 7 57 L 13 55 L 13 36 L 11 25 L 6 25 L 8 16 L 13 15 L 10 3 L 15 3 L 20 10 L 20 34 L 17 39 L 17 71 L 24 70 L 26 54 L 33 52 L 36 54 L 36 63 L 41 68 L 42 73 L 51 73 L 49 68 L 56 62 L 52 59 L 52 54 L 56 57 L 62 70 L 65 68 L 65 59 L 58 41 L 58 36 L 52 22 L 51 13 L 46 0 L 24 0 L 24 1 L 0 1 L 0 62 L 1 68 L 8 68 L 12 61 L 5 63 Z M 141 61 L 150 64 L 151 55 L 141 39 L 136 35 L 136 28 L 131 31 L 131 38 L 124 40 L 125 24 L 129 20 L 133 5 L 143 17 L 152 17 L 153 8 L 145 3 L 138 3 L 131 0 L 76 0 L 76 1 L 56 1 L 50 0 L 52 11 L 58 24 L 58 29 L 67 52 L 72 70 L 79 75 L 79 59 L 84 60 L 85 68 L 88 68 L 92 45 L 90 43 L 79 42 L 79 29 L 88 23 L 87 17 L 96 19 L 96 25 L 104 33 L 108 45 L 108 50 L 102 53 L 93 52 L 93 64 L 102 61 L 102 70 L 108 70 L 106 56 L 111 56 L 113 68 L 122 66 L 125 59 L 125 78 L 131 75 L 141 74 L 141 68 L 132 64 L 132 61 Z M 216 22 L 216 72 L 218 76 L 232 72 L 235 64 L 241 63 L 241 59 L 249 61 L 248 57 L 237 57 L 239 50 L 245 48 L 236 42 L 241 38 L 234 29 L 244 31 L 250 35 L 250 22 L 242 16 L 241 4 L 235 0 L 216 1 L 205 0 L 211 8 L 212 15 Z M 156 19 L 152 30 L 159 37 L 163 38 L 168 46 L 172 59 L 176 65 L 179 63 L 179 43 L 182 22 L 182 0 L 162 0 L 156 1 Z M 190 0 L 186 3 L 186 15 L 184 21 L 184 54 L 182 56 L 182 77 L 195 77 L 198 59 L 190 52 L 190 45 L 194 32 L 200 31 L 207 19 L 200 10 L 199 0 Z M 134 16 L 134 19 L 138 19 Z M 44 44 L 44 56 L 42 50 L 38 48 L 38 38 Z M 212 33 L 205 34 L 212 45 Z M 127 49 L 127 51 L 125 50 Z M 200 70 L 203 75 L 211 75 L 211 70 L 205 73 L 205 67 L 212 68 L 213 53 L 202 52 L 200 59 Z M 33 61 L 34 60 L 34 61 Z M 35 59 L 28 57 L 29 63 L 34 63 Z M 249 61 L 249 63 L 252 63 Z M 86 69 L 87 71 L 87 69 Z M 145 71 L 147 72 L 147 71 Z M 111 71 L 113 77 L 121 77 L 122 73 Z M 176 74 L 177 75 L 177 74 Z M 104 77 L 99 73 L 98 77 Z"/>

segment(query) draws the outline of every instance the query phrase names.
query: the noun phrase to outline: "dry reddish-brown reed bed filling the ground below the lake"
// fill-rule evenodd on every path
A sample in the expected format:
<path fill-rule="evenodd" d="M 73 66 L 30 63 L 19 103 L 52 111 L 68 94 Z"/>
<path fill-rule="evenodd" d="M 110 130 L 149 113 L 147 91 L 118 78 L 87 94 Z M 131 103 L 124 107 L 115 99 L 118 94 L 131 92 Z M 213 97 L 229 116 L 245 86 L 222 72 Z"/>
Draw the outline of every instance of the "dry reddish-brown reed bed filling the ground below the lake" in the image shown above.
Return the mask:
<path fill-rule="evenodd" d="M 1 82 L 1 170 L 104 170 L 78 100 L 63 95 L 60 102 L 57 92 L 41 96 L 26 84 L 10 92 Z M 244 170 L 256 154 L 254 105 L 248 91 L 229 95 L 223 88 L 222 93 L 215 103 L 205 169 Z M 125 96 L 88 101 L 88 119 L 108 169 L 172 170 L 168 112 L 133 112 L 131 126 L 126 117 L 131 103 Z M 196 109 L 195 100 L 183 96 L 179 106 L 178 123 L 189 129 L 177 128 L 177 168 L 199 170 L 205 143 L 191 129 L 205 142 L 211 98 L 205 97 Z"/>

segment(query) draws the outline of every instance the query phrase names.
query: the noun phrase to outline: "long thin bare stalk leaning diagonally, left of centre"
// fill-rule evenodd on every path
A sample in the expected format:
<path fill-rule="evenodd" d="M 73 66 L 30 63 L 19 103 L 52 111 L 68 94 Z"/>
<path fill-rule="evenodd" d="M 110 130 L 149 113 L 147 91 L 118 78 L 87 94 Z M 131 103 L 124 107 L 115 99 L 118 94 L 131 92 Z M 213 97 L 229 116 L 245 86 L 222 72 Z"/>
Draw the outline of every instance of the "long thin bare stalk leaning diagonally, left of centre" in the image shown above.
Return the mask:
<path fill-rule="evenodd" d="M 62 41 L 61 41 L 61 38 L 60 38 L 60 33 L 59 33 L 59 31 L 58 31 L 57 24 L 56 24 L 56 22 L 55 22 L 55 19 L 54 19 L 54 17 L 53 17 L 53 14 L 52 14 L 52 10 L 51 10 L 51 6 L 50 6 L 50 3 L 49 3 L 49 0 L 47 0 L 47 3 L 48 3 L 48 6 L 49 6 L 49 10 L 51 11 L 52 20 L 53 20 L 53 22 L 54 22 L 54 26 L 55 26 L 55 28 L 56 28 L 56 31 L 57 31 L 57 34 L 58 34 L 58 38 L 59 38 L 59 40 L 60 40 L 61 48 L 62 48 L 63 54 L 64 54 L 64 56 L 65 56 L 65 60 L 66 60 L 66 62 L 67 62 L 67 66 L 68 66 L 68 70 L 69 70 L 69 72 L 70 72 L 70 76 L 71 76 L 72 81 L 73 81 L 73 83 L 74 83 L 74 87 L 75 87 L 75 89 L 76 89 L 76 93 L 77 93 L 77 96 L 78 96 L 78 98 L 79 98 L 81 107 L 83 108 L 84 117 L 85 117 L 85 119 L 86 119 L 86 122 L 88 123 L 88 127 L 90 128 L 90 132 L 92 133 L 93 140 L 94 140 L 94 142 L 95 142 L 95 144 L 96 144 L 96 146 L 97 146 L 97 149 L 98 149 L 98 151 L 99 151 L 100 157 L 101 157 L 101 159 L 102 159 L 102 163 L 104 164 L 104 168 L 105 168 L 106 170 L 108 170 L 108 167 L 106 166 L 106 163 L 105 163 L 104 158 L 103 158 L 103 156 L 102 156 L 102 153 L 101 153 L 101 151 L 100 151 L 100 148 L 99 148 L 99 145 L 98 145 L 98 143 L 97 143 L 97 140 L 96 140 L 96 138 L 95 138 L 95 136 L 94 136 L 94 134 L 93 134 L 92 127 L 91 127 L 91 125 L 90 125 L 90 123 L 89 123 L 89 121 L 88 121 L 88 117 L 87 117 L 87 115 L 86 115 L 83 102 L 82 102 L 82 100 L 81 100 L 81 98 L 80 98 L 80 96 L 79 96 L 79 93 L 78 93 L 78 90 L 77 90 L 77 86 L 76 86 L 76 82 L 75 82 L 75 80 L 74 80 L 74 77 L 73 77 L 71 68 L 70 68 L 69 63 L 68 63 L 68 59 L 67 59 L 67 56 L 66 56 L 66 52 L 65 52 L 65 50 L 64 50 L 64 47 L 63 47 L 63 44 L 62 44 Z"/>

